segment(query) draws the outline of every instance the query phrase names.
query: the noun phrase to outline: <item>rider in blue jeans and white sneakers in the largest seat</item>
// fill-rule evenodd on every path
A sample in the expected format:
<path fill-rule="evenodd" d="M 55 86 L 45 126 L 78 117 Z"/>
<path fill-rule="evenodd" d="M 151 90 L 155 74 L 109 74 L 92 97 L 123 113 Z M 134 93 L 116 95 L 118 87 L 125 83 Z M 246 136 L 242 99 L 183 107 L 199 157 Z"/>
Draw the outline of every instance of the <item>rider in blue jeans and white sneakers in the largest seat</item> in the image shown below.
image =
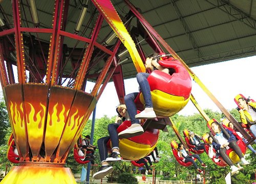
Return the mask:
<path fill-rule="evenodd" d="M 160 70 L 168 74 L 168 68 L 162 67 L 160 64 L 158 64 L 157 58 L 154 57 L 157 55 L 157 53 L 154 53 L 146 58 L 146 70 L 150 70 L 151 72 L 154 70 Z M 131 126 L 118 133 L 118 136 L 121 139 L 140 135 L 144 132 L 143 128 L 140 126 L 139 119 L 154 119 L 157 117 L 153 109 L 150 84 L 147 81 L 148 76 L 150 76 L 150 74 L 148 73 L 138 73 L 136 76 L 141 93 L 145 101 L 145 109 L 143 111 L 137 114 L 137 107 L 134 102 L 139 93 L 131 93 L 124 96 L 127 111 L 131 118 Z"/>

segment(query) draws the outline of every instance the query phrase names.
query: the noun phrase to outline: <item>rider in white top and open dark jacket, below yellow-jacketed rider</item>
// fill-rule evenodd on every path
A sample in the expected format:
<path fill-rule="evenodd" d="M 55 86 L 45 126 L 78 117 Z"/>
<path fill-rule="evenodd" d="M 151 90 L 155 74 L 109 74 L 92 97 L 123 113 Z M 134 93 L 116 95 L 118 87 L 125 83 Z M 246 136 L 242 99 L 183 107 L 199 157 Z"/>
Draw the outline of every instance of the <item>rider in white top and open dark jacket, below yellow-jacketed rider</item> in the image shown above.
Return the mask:
<path fill-rule="evenodd" d="M 212 142 L 212 146 L 214 147 L 215 150 L 221 150 L 223 148 L 229 149 L 229 147 L 231 147 L 234 150 L 234 152 L 236 152 L 237 155 L 239 156 L 242 165 L 249 164 L 247 160 L 244 158 L 240 147 L 237 145 L 236 136 L 230 130 L 223 128 L 223 132 L 221 130 L 219 123 L 216 121 L 211 123 L 211 129 L 216 133 L 214 136 L 216 141 Z"/>

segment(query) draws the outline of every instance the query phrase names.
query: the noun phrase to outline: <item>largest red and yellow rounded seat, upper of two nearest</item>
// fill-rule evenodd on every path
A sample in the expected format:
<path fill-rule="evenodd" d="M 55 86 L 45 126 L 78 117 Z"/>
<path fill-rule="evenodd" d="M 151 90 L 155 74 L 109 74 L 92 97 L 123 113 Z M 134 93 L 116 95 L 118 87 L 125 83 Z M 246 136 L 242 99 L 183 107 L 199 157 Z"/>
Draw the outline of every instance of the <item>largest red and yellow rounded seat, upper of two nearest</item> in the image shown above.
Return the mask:
<path fill-rule="evenodd" d="M 191 78 L 186 68 L 173 57 L 163 57 L 159 64 L 169 68 L 170 75 L 159 70 L 148 76 L 154 111 L 159 117 L 170 117 L 185 107 L 191 93 Z M 144 99 L 140 92 L 135 99 L 137 109 L 144 109 Z"/>

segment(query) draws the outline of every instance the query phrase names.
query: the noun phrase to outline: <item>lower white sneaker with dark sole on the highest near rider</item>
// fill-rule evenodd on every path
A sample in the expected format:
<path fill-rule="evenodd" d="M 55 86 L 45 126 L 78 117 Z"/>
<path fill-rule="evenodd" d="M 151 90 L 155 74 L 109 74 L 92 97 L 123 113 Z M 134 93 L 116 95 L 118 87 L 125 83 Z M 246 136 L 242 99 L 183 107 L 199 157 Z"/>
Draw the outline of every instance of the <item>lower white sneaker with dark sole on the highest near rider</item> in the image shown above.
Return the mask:
<path fill-rule="evenodd" d="M 120 139 L 128 139 L 133 136 L 137 136 L 144 133 L 142 126 L 139 124 L 133 124 L 129 128 L 118 133 Z"/>

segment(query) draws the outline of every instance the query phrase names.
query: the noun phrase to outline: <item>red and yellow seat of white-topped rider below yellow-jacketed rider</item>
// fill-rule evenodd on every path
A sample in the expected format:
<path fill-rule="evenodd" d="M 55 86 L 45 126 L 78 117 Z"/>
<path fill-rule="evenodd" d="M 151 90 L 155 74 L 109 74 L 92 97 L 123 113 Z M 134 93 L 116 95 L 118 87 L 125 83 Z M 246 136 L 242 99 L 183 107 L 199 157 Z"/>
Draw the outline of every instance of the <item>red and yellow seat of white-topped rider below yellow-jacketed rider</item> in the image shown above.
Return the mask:
<path fill-rule="evenodd" d="M 215 119 L 211 119 L 208 123 L 207 126 L 209 129 L 211 129 L 211 124 L 213 122 L 217 122 Z M 224 125 L 225 126 L 225 125 Z M 225 128 L 227 128 L 225 126 Z M 245 154 L 246 153 L 246 144 L 243 142 L 242 138 L 237 134 L 236 131 L 234 131 L 231 128 L 227 128 L 228 130 L 232 131 L 232 133 L 236 136 L 237 138 L 237 145 L 239 146 L 239 148 L 241 149 L 242 153 Z M 215 135 L 215 134 L 214 134 Z M 227 151 L 226 151 L 227 155 L 230 157 L 230 159 L 232 160 L 233 163 L 238 163 L 240 158 L 237 155 L 236 152 L 234 152 L 234 150 L 230 147 Z"/>

